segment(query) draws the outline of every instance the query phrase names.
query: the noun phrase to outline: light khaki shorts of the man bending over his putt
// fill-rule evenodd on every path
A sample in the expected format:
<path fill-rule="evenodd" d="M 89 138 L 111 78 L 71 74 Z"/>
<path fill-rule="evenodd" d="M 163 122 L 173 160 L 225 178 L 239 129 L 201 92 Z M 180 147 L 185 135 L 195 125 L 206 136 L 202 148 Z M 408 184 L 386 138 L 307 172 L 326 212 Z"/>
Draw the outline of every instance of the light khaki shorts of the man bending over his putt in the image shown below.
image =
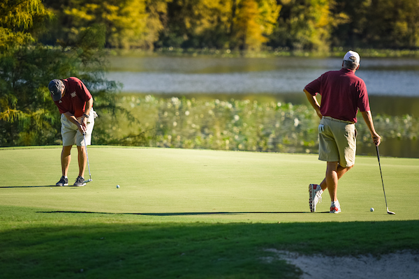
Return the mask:
<path fill-rule="evenodd" d="M 87 119 L 86 126 L 86 145 L 91 144 L 91 133 L 93 132 L 94 119 L 96 112 L 90 111 L 89 119 Z M 80 122 L 81 117 L 77 120 Z M 75 123 L 69 121 L 64 114 L 61 114 L 61 137 L 63 138 L 63 146 L 71 146 L 77 144 L 77 146 L 84 146 L 83 134 L 77 128 Z"/>

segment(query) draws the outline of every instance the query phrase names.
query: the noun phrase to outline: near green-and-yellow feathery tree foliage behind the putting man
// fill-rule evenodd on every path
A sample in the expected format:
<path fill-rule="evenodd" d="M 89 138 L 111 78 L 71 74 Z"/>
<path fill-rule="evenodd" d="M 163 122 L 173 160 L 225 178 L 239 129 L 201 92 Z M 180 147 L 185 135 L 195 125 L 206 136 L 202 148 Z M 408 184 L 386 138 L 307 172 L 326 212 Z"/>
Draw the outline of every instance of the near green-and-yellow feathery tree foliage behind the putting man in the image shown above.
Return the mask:
<path fill-rule="evenodd" d="M 0 20 L 0 35 L 7 38 L 0 43 L 0 146 L 59 143 L 59 112 L 47 89 L 54 78 L 79 77 L 96 110 L 124 112 L 112 94 L 118 84 L 103 77 L 105 30 L 92 25 L 68 44 L 45 47 L 36 38 L 52 15 L 41 1 L 15 2 L 2 2 L 0 10 L 7 15 Z"/>

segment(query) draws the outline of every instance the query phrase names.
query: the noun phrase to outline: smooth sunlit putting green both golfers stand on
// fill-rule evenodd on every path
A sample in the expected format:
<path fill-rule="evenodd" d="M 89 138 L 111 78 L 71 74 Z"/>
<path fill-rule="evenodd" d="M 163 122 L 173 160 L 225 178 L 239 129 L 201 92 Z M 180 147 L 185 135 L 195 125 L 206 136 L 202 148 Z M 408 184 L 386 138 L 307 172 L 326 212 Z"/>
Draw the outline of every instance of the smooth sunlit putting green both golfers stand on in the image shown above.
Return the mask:
<path fill-rule="evenodd" d="M 320 183 L 316 155 L 196 149 L 89 146 L 91 178 L 84 187 L 56 187 L 60 146 L 0 149 L 0 205 L 42 211 L 138 214 L 170 222 L 348 222 L 418 220 L 419 159 L 358 156 L 339 181 L 342 212 L 325 214 L 330 198 L 309 212 L 308 185 Z M 78 175 L 77 151 L 69 183 Z M 86 169 L 85 178 L 89 178 Z M 117 189 L 119 184 L 121 188 Z M 375 211 L 369 209 L 374 207 Z"/>

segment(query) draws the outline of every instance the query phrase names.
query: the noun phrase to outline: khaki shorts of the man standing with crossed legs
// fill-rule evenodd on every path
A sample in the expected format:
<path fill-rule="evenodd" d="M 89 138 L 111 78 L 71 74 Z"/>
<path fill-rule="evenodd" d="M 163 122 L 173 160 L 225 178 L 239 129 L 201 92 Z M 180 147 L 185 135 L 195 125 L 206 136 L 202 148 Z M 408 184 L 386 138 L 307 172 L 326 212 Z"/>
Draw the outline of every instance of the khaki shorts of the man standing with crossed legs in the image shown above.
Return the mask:
<path fill-rule="evenodd" d="M 342 167 L 355 164 L 356 128 L 355 124 L 321 119 L 325 130 L 318 134 L 318 160 L 339 162 Z"/>

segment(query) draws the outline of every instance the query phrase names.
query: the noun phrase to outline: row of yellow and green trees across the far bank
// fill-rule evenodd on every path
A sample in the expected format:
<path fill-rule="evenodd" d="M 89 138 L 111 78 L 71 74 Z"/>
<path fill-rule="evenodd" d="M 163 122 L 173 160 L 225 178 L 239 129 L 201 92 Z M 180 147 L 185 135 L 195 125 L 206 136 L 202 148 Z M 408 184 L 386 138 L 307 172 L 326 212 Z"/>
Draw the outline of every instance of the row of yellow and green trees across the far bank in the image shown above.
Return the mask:
<path fill-rule="evenodd" d="M 92 25 L 119 49 L 419 47 L 417 0 L 45 0 L 56 24 L 43 43 L 71 45 Z"/>

